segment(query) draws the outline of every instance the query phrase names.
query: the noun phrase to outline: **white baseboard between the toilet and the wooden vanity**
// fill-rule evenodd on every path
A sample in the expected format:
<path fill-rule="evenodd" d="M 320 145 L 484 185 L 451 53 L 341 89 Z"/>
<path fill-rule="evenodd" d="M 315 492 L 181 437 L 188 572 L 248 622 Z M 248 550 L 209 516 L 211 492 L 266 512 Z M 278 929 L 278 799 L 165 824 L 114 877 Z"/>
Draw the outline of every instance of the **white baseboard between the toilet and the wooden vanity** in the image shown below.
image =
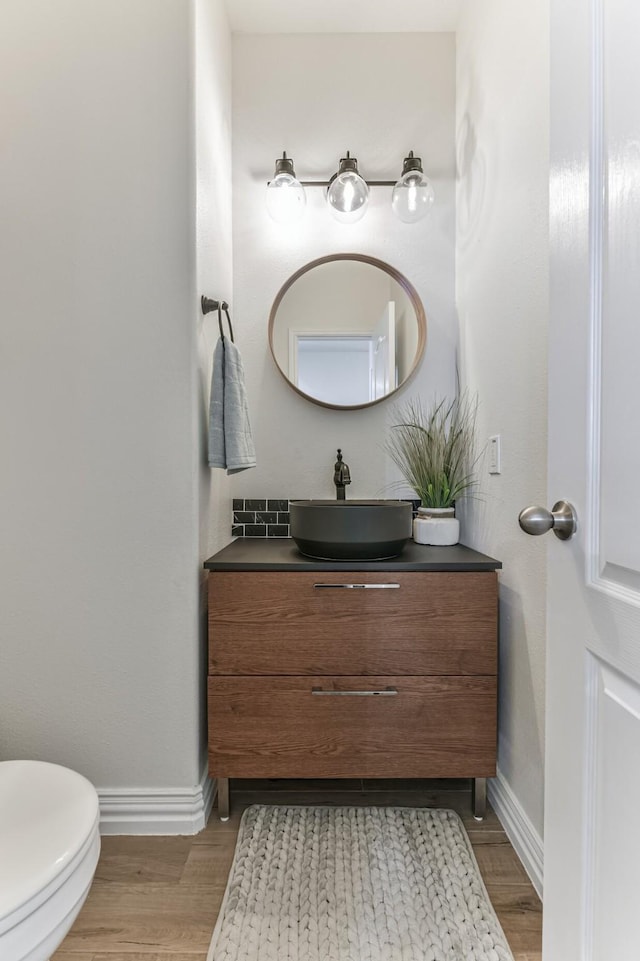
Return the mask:
<path fill-rule="evenodd" d="M 193 788 L 99 788 L 101 834 L 198 834 L 213 806 L 206 770 Z"/>

